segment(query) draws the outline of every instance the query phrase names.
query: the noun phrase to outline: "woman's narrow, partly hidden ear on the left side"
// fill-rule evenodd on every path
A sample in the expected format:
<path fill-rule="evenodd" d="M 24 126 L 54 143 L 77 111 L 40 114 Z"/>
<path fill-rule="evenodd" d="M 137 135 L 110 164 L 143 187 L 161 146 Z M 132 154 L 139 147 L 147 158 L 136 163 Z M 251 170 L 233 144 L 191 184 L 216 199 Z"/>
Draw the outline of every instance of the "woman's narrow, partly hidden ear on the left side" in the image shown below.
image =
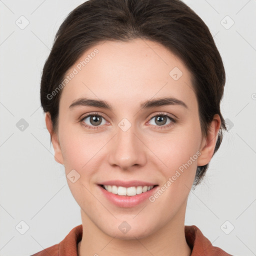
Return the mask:
<path fill-rule="evenodd" d="M 58 141 L 58 136 L 57 136 L 57 133 L 53 130 L 49 112 L 46 112 L 45 114 L 45 123 L 46 123 L 47 130 L 50 133 L 50 141 L 54 148 L 54 159 L 58 163 L 63 164 L 63 157 L 62 157 L 61 148 Z"/>

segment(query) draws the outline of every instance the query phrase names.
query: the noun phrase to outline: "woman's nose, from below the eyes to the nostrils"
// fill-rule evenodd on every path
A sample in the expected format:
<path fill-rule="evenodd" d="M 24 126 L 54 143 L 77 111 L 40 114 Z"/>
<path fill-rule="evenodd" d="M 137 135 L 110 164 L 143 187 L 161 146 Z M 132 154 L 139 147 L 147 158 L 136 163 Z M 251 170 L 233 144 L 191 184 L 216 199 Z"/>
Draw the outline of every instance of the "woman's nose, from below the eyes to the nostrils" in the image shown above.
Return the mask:
<path fill-rule="evenodd" d="M 137 132 L 133 125 L 124 131 L 117 126 L 116 135 L 109 144 L 108 161 L 120 169 L 128 170 L 134 166 L 143 166 L 146 163 L 146 145 L 142 134 Z"/>

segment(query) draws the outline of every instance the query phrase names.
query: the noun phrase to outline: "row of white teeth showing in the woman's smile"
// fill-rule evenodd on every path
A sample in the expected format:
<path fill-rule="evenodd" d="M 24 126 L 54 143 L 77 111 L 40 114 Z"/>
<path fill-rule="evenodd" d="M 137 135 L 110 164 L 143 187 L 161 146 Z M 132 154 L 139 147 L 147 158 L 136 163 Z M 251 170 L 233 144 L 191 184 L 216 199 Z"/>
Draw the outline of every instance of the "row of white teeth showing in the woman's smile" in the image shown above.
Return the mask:
<path fill-rule="evenodd" d="M 123 187 L 123 186 L 110 186 L 110 185 L 103 185 L 103 187 L 110 193 L 118 194 L 118 195 L 136 195 L 144 193 L 153 188 L 153 186 L 130 186 L 130 187 Z"/>

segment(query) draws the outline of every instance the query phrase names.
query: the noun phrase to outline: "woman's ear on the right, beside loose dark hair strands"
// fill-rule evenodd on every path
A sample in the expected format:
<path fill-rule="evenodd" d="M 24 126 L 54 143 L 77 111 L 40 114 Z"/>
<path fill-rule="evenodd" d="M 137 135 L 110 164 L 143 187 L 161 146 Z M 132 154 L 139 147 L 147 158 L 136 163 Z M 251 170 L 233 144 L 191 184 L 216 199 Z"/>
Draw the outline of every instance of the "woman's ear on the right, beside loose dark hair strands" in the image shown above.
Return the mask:
<path fill-rule="evenodd" d="M 218 138 L 218 131 L 221 121 L 218 114 L 214 114 L 213 119 L 208 127 L 208 135 L 202 138 L 200 152 L 197 158 L 197 166 L 203 166 L 209 163 L 216 145 Z"/>

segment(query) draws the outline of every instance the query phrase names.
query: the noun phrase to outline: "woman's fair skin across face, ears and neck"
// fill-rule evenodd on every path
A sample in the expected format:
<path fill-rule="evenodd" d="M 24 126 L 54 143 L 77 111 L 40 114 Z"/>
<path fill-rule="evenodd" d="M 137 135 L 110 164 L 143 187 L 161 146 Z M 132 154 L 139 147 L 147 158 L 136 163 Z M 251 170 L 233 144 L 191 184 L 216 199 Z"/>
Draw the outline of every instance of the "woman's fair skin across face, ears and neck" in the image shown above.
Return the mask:
<path fill-rule="evenodd" d="M 78 255 L 188 256 L 191 249 L 184 234 L 187 198 L 196 166 L 205 165 L 213 155 L 219 115 L 214 115 L 208 136 L 202 136 L 189 70 L 172 52 L 150 40 L 94 45 L 68 72 L 94 48 L 98 54 L 62 89 L 56 131 L 49 113 L 45 114 L 55 160 L 64 164 L 66 175 L 72 169 L 80 175 L 74 183 L 67 178 L 81 208 L 83 235 Z M 178 80 L 169 75 L 173 67 L 183 73 Z M 139 110 L 145 100 L 166 96 L 182 100 L 187 108 L 164 105 Z M 80 97 L 105 100 L 112 111 L 92 106 L 70 109 Z M 103 115 L 98 129 L 86 128 L 79 121 L 80 116 L 93 112 Z M 166 117 L 166 123 L 157 124 L 162 112 L 175 115 L 176 122 Z M 127 131 L 118 126 L 122 118 L 131 123 Z M 89 119 L 83 123 L 96 127 Z M 166 128 L 158 129 L 162 126 Z M 97 185 L 110 179 L 136 179 L 161 187 L 197 151 L 197 159 L 154 202 L 146 199 L 134 207 L 118 207 Z M 131 226 L 125 234 L 118 228 L 123 221 Z"/>

